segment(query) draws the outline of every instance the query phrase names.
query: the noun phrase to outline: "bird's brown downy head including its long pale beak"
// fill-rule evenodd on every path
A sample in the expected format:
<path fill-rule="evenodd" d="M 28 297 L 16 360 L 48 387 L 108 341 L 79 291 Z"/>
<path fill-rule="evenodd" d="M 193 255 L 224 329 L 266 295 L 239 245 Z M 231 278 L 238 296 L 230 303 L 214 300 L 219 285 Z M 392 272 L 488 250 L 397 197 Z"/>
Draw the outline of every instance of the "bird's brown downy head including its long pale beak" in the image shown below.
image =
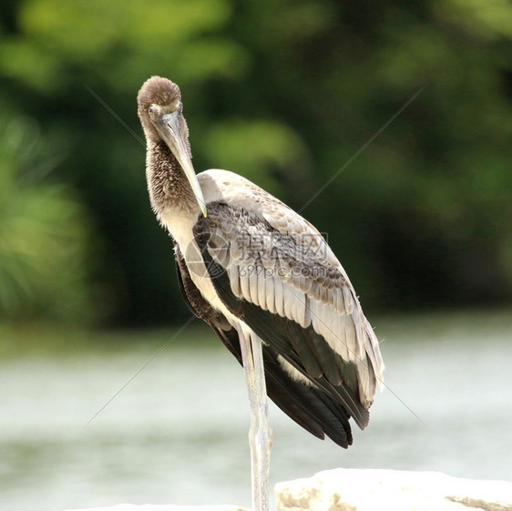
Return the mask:
<path fill-rule="evenodd" d="M 179 87 L 167 78 L 150 77 L 138 91 L 138 118 L 146 140 L 164 142 L 183 169 L 203 215 L 206 205 L 200 183 L 192 167 L 189 128 L 183 117 L 183 104 Z"/>

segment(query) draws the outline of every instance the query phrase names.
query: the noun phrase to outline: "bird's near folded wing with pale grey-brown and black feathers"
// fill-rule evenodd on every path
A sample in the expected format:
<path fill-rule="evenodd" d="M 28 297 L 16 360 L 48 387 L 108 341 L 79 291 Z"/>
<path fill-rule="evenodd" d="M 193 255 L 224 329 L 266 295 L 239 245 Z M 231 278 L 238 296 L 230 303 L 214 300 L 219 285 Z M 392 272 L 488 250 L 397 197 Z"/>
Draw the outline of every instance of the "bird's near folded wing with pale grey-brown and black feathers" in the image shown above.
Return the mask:
<path fill-rule="evenodd" d="M 337 396 L 363 428 L 382 379 L 378 341 L 341 264 L 295 216 L 272 225 L 268 210 L 262 218 L 210 202 L 194 237 L 230 312 L 279 353 L 283 368 Z"/>

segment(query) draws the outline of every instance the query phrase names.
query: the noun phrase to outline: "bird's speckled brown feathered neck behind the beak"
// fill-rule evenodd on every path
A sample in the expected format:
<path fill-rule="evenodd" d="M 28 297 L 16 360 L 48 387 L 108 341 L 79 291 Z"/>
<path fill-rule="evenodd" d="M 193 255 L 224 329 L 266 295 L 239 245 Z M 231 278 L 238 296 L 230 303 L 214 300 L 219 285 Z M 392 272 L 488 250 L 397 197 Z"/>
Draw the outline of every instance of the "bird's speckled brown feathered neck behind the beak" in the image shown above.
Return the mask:
<path fill-rule="evenodd" d="M 166 144 L 149 142 L 146 164 L 149 199 L 159 220 L 173 214 L 197 217 L 200 206 L 189 179 Z"/>

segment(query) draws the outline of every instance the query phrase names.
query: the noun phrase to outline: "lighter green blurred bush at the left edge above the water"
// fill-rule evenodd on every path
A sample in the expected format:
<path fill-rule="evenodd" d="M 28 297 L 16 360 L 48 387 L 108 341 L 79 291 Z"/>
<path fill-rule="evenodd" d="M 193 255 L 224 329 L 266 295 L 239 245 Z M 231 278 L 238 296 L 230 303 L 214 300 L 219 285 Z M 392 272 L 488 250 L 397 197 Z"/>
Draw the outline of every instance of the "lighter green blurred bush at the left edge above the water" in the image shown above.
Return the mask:
<path fill-rule="evenodd" d="M 0 124 L 0 309 L 26 321 L 91 320 L 87 221 L 71 189 L 41 183 L 54 163 L 44 157 L 26 118 Z"/>

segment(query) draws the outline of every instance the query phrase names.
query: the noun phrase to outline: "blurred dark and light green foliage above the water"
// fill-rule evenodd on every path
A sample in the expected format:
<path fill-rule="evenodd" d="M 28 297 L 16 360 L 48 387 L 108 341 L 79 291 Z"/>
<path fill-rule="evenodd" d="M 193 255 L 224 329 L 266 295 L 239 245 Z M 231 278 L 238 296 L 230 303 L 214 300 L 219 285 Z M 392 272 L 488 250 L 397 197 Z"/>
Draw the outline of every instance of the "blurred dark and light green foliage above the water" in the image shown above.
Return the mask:
<path fill-rule="evenodd" d="M 151 75 L 181 87 L 197 171 L 240 172 L 297 210 L 423 87 L 302 214 L 364 305 L 510 300 L 507 0 L 10 0 L 0 15 L 3 315 L 186 313 L 145 191 L 135 98 Z"/>

